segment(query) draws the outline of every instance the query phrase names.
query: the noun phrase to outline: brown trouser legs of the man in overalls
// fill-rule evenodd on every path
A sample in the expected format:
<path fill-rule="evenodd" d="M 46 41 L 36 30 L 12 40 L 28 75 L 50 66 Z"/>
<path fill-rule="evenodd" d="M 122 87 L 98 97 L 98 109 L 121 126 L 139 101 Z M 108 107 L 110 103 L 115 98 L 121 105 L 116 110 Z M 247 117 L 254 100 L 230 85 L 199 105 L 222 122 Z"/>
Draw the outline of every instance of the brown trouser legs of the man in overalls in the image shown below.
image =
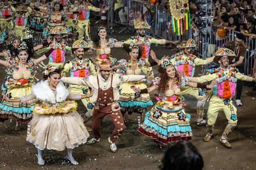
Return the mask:
<path fill-rule="evenodd" d="M 93 112 L 93 134 L 94 138 L 97 140 L 101 137 L 100 136 L 100 126 L 102 123 L 102 120 L 105 116 L 109 116 L 113 124 L 115 125 L 115 129 L 113 130 L 110 140 L 114 143 L 116 139 L 119 137 L 119 135 L 125 130 L 125 123 L 124 119 L 122 117 L 121 111 L 115 111 L 115 112 L 108 112 L 109 107 L 111 106 L 106 106 L 106 107 L 100 107 L 99 110 L 95 110 Z M 107 111 L 107 113 L 102 112 L 102 111 Z"/>

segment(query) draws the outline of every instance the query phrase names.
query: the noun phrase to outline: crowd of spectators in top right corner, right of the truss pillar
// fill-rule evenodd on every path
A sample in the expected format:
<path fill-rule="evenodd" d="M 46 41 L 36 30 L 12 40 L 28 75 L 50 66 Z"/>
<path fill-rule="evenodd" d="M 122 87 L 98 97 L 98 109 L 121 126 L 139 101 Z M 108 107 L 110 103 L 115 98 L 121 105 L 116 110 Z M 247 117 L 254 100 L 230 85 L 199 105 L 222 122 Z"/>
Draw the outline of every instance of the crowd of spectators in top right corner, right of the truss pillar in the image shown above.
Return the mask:
<path fill-rule="evenodd" d="M 214 25 L 256 37 L 256 0 L 217 0 L 213 3 Z"/>

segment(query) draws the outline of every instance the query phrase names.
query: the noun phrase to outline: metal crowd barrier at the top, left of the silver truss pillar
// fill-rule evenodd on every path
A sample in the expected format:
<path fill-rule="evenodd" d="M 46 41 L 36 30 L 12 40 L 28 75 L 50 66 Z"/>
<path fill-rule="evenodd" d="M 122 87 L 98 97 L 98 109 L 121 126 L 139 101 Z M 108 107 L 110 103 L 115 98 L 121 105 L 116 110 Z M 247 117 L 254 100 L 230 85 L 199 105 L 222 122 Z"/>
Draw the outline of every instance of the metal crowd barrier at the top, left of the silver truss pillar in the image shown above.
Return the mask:
<path fill-rule="evenodd" d="M 114 12 L 112 0 L 108 1 L 108 6 L 111 8 L 108 12 L 109 29 L 113 29 L 113 23 L 122 24 L 126 26 L 125 29 L 128 27 L 134 28 L 136 21 L 146 20 L 151 26 L 149 33 L 154 36 L 173 41 L 187 40 L 191 37 L 191 29 L 181 36 L 177 36 L 176 33 L 172 32 L 170 11 L 163 6 L 145 5 L 137 0 L 124 0 L 122 7 L 117 9 L 116 12 Z M 118 13 L 118 16 L 116 13 Z"/>

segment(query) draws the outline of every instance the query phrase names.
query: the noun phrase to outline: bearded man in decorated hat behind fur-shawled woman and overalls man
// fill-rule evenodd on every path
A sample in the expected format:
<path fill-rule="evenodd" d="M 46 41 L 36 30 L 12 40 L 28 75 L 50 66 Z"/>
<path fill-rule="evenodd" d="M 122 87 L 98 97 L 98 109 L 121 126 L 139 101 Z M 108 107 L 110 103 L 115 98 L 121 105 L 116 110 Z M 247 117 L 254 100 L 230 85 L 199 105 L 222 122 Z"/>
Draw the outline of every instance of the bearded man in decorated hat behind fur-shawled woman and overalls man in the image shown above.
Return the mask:
<path fill-rule="evenodd" d="M 90 58 L 84 57 L 84 52 L 90 49 L 90 46 L 84 40 L 76 40 L 72 46 L 72 54 L 75 59 L 67 61 L 64 65 L 63 73 L 70 72 L 70 77 L 87 78 L 89 75 L 96 75 L 96 69 Z M 78 86 L 70 84 L 69 88 L 71 93 L 80 95 L 89 95 L 90 90 L 88 86 Z M 87 112 L 84 116 L 84 122 L 87 122 L 93 116 L 93 104 L 90 102 L 91 98 L 82 99 L 84 107 L 86 107 Z M 87 127 L 88 131 L 92 131 Z"/>

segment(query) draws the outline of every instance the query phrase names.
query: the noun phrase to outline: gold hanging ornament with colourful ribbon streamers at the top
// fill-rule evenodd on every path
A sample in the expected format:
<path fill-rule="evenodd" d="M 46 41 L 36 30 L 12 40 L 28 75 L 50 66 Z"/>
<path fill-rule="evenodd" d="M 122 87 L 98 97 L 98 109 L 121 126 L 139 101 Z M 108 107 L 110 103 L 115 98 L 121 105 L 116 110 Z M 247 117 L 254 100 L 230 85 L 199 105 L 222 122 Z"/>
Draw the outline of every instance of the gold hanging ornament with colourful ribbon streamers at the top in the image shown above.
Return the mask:
<path fill-rule="evenodd" d="M 190 11 L 188 0 L 169 0 L 172 31 L 177 36 L 183 35 L 190 28 Z"/>

